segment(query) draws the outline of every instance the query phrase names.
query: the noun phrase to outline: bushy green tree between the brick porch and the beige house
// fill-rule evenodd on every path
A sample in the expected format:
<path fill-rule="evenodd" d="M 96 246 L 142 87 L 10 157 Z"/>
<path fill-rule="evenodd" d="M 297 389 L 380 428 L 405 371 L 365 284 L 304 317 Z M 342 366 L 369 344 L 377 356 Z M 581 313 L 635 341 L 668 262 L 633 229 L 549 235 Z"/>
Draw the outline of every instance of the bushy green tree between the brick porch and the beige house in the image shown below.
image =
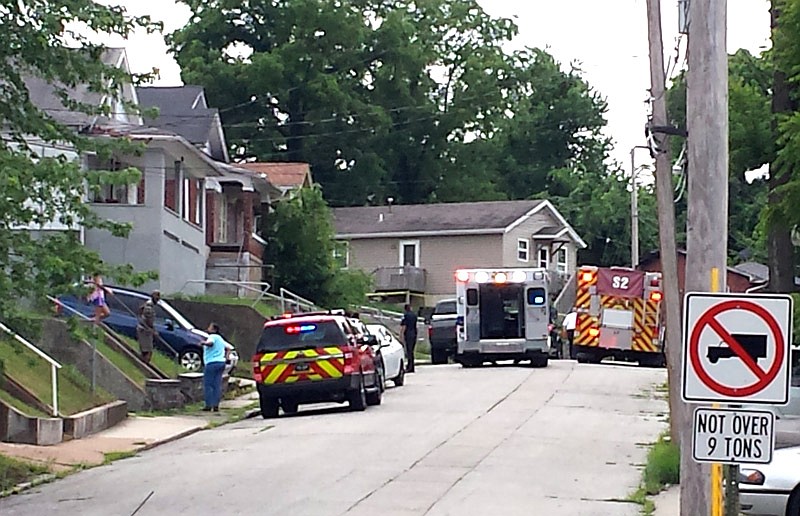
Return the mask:
<path fill-rule="evenodd" d="M 363 304 L 370 279 L 335 263 L 332 214 L 319 188 L 304 188 L 276 203 L 262 233 L 264 263 L 275 266 L 277 286 L 322 306 Z"/>

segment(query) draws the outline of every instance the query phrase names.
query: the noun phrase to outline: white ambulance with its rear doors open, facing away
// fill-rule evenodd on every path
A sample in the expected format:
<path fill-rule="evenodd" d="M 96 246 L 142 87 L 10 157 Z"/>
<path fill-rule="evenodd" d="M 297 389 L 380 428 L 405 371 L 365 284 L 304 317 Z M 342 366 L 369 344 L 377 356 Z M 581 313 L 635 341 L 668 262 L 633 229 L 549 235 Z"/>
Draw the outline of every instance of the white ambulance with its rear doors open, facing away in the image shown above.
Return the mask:
<path fill-rule="evenodd" d="M 456 362 L 501 360 L 547 367 L 550 273 L 541 268 L 456 271 Z"/>

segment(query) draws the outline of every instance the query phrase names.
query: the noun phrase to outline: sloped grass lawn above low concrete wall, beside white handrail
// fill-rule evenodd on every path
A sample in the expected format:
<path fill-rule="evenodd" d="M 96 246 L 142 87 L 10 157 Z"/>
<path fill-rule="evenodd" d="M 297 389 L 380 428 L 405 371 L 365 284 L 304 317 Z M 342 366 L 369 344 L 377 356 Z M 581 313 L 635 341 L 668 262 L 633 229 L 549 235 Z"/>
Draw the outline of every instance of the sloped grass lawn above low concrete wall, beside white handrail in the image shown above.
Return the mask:
<path fill-rule="evenodd" d="M 52 403 L 50 364 L 22 344 L 7 338 L 0 338 L 0 360 L 4 363 L 6 374 L 42 402 L 48 405 Z M 62 365 L 58 371 L 58 403 L 62 414 L 75 414 L 114 400 L 102 389 L 92 394 L 91 384 L 86 377 L 74 366 Z"/>

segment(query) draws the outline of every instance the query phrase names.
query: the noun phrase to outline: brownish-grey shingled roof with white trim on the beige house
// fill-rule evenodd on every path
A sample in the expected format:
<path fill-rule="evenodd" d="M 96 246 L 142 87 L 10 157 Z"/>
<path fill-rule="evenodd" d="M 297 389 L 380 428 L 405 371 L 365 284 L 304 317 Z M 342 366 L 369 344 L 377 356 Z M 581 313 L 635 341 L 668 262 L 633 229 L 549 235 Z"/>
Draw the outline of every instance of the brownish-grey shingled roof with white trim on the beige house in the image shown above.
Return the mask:
<path fill-rule="evenodd" d="M 543 200 L 335 208 L 333 218 L 337 238 L 489 235 L 507 233 L 543 209 L 586 247 L 550 201 Z"/>

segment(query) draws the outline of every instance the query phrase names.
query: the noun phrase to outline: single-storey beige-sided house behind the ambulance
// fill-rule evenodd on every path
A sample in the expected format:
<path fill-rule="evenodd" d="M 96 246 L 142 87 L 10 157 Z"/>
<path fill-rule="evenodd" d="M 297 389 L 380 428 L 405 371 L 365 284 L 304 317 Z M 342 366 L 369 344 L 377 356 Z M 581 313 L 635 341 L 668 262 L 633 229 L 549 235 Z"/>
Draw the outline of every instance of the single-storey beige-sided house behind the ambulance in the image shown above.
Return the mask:
<path fill-rule="evenodd" d="M 377 294 L 431 305 L 460 267 L 546 267 L 564 278 L 584 241 L 546 200 L 333 210 L 337 258 L 372 274 Z"/>

